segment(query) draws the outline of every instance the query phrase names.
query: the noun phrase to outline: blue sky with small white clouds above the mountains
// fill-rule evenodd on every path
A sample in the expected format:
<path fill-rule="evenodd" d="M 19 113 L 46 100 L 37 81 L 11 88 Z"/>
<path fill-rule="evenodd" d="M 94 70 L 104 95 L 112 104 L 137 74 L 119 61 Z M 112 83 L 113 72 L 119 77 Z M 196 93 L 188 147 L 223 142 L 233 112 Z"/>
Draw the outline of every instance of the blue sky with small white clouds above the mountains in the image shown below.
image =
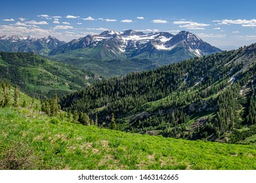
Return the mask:
<path fill-rule="evenodd" d="M 191 31 L 222 49 L 256 42 L 255 1 L 3 1 L 0 36 L 71 41 L 105 30 Z"/>

